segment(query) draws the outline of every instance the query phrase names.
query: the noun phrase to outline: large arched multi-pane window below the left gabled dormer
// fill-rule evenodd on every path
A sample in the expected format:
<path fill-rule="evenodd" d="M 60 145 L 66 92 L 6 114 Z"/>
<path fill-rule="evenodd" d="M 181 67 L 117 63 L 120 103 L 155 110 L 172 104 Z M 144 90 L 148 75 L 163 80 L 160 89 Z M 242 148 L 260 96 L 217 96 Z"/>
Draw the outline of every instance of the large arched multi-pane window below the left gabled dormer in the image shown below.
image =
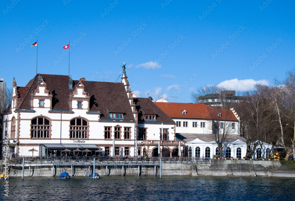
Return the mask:
<path fill-rule="evenodd" d="M 36 117 L 31 121 L 31 138 L 50 138 L 50 120 Z"/>

